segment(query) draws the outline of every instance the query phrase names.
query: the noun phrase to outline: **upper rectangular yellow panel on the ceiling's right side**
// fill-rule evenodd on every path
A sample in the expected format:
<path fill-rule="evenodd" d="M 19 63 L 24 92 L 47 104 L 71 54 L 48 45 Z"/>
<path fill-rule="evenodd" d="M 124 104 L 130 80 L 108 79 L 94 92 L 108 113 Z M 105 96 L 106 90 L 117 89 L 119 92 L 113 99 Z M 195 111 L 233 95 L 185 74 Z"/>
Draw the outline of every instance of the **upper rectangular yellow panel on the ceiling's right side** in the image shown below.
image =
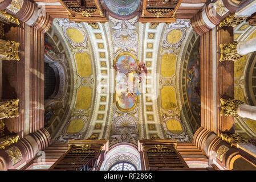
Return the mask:
<path fill-rule="evenodd" d="M 161 75 L 164 77 L 171 77 L 175 75 L 177 56 L 172 54 L 162 55 L 161 61 Z"/>

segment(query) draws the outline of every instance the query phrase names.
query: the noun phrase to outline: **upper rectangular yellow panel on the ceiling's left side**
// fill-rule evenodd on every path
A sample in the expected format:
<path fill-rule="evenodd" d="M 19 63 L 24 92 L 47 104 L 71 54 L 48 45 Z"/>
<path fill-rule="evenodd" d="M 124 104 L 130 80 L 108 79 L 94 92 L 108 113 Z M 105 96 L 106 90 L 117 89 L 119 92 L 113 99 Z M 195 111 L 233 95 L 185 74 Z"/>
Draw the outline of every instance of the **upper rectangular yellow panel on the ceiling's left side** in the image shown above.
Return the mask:
<path fill-rule="evenodd" d="M 92 75 L 92 63 L 88 53 L 76 53 L 75 54 L 76 67 L 78 69 L 78 75 L 80 77 L 90 77 Z"/>

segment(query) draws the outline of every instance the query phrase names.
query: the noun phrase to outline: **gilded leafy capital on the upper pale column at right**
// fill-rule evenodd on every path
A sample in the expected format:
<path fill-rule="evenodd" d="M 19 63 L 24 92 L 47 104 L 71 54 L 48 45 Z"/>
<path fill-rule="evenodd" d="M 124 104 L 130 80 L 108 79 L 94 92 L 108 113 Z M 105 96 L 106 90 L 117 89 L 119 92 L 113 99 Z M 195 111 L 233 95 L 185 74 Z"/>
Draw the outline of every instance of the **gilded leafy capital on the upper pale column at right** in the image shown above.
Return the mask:
<path fill-rule="evenodd" d="M 220 44 L 220 49 L 221 49 L 221 57 L 220 57 L 220 62 L 221 61 L 237 61 L 242 57 L 237 52 L 237 42 L 234 43 L 226 43 L 226 44 Z"/>

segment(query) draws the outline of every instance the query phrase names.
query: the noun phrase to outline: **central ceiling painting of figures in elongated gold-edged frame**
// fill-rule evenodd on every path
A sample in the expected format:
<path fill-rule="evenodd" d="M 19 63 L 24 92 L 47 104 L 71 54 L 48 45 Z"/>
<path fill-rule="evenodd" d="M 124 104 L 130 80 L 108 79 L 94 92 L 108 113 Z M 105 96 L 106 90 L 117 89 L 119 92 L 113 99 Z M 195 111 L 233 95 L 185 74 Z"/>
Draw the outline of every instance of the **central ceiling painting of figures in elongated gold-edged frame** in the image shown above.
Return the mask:
<path fill-rule="evenodd" d="M 115 101 L 121 111 L 133 110 L 141 94 L 140 84 L 147 75 L 145 63 L 129 52 L 116 56 L 113 68 L 116 71 Z"/>

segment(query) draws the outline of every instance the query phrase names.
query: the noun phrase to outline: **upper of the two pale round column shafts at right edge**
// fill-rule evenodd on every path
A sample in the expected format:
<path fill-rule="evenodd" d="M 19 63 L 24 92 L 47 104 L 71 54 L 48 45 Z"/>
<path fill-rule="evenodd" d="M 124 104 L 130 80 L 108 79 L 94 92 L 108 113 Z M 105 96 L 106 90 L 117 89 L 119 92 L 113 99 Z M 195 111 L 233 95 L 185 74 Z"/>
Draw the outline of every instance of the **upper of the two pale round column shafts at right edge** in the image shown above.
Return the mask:
<path fill-rule="evenodd" d="M 237 52 L 241 55 L 247 55 L 256 51 L 256 38 L 245 40 L 237 44 Z"/>

